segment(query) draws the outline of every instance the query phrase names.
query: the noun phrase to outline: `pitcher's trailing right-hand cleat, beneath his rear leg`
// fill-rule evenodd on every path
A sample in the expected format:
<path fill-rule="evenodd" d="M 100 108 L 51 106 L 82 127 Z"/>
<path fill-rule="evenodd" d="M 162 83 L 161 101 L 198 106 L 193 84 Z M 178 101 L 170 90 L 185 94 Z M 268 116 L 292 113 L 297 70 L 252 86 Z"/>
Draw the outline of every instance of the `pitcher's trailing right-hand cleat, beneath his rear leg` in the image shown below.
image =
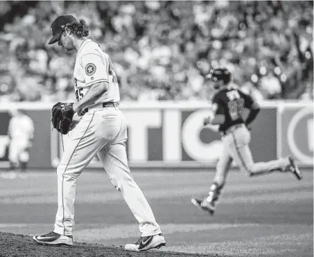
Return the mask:
<path fill-rule="evenodd" d="M 153 236 L 142 236 L 135 244 L 127 244 L 124 249 L 126 251 L 147 251 L 153 248 L 160 248 L 166 245 L 166 241 L 162 233 Z"/>

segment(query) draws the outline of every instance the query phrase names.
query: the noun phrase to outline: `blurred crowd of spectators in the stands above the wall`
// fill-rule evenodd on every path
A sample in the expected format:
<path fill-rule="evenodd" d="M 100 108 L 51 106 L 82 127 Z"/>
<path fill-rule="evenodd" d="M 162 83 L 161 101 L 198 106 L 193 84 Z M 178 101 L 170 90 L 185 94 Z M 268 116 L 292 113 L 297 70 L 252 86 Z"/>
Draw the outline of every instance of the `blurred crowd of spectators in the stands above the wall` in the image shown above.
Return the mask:
<path fill-rule="evenodd" d="M 257 100 L 313 100 L 313 1 L 1 1 L 0 102 L 75 100 L 69 13 L 112 58 L 121 100 L 207 100 L 225 66 Z"/>

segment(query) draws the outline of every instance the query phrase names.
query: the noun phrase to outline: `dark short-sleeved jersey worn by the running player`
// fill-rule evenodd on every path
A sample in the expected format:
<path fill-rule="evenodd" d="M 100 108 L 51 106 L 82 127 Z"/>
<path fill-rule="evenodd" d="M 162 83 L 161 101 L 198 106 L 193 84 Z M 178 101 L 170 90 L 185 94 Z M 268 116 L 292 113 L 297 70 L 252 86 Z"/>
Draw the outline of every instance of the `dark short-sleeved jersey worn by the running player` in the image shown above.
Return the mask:
<path fill-rule="evenodd" d="M 250 108 L 253 102 L 251 96 L 234 87 L 218 91 L 213 96 L 213 108 L 216 114 L 225 115 L 225 123 L 220 125 L 219 130 L 225 131 L 233 125 L 244 123 L 243 109 Z"/>

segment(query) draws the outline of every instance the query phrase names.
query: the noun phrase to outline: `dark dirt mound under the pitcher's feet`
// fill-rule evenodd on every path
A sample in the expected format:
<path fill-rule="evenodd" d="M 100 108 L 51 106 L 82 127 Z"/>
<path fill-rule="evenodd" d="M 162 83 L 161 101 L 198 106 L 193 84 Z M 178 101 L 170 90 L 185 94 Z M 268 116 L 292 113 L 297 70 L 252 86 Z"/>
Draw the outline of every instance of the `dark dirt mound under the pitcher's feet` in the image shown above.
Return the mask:
<path fill-rule="evenodd" d="M 26 235 L 0 232 L 0 257 L 181 257 L 204 256 L 199 254 L 183 254 L 162 250 L 137 253 L 125 251 L 123 247 L 106 247 L 105 245 L 74 242 L 73 247 L 50 247 L 38 245 L 33 238 Z"/>

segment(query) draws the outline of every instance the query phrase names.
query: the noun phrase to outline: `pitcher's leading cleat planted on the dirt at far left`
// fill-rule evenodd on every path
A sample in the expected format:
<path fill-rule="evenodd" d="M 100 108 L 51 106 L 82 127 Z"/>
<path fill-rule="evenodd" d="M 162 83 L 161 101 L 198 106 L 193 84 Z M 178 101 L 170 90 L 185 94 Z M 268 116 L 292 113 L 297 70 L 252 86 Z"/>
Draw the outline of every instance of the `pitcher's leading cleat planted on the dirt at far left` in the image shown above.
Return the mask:
<path fill-rule="evenodd" d="M 73 246 L 72 236 L 63 236 L 55 232 L 47 233 L 42 236 L 33 236 L 33 240 L 41 245 L 54 245 L 54 246 Z"/>

